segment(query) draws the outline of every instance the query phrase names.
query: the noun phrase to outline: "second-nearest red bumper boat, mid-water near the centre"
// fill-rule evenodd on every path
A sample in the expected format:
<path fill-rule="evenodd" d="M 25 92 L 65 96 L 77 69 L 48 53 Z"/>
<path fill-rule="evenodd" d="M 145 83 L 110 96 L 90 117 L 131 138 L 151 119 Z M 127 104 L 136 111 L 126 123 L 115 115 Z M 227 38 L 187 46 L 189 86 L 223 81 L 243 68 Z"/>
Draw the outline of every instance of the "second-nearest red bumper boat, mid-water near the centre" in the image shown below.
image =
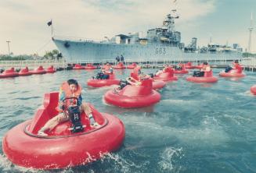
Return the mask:
<path fill-rule="evenodd" d="M 153 90 L 152 79 L 143 79 L 140 85 L 126 85 L 124 88 L 109 90 L 104 95 L 107 104 L 122 108 L 141 108 L 156 104 L 160 94 Z"/>

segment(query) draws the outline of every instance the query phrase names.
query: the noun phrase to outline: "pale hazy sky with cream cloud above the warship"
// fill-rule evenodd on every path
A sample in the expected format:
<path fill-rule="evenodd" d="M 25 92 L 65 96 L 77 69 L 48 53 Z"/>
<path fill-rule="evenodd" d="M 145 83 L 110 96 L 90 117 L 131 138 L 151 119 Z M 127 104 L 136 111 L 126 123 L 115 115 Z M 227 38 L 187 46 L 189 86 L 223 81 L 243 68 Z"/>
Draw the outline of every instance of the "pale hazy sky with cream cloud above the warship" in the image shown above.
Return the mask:
<path fill-rule="evenodd" d="M 238 43 L 248 46 L 251 12 L 251 51 L 256 52 L 256 0 L 0 0 L 0 54 L 44 55 L 56 49 L 51 41 L 61 37 L 104 40 L 160 27 L 164 17 L 177 9 L 175 30 L 182 42 L 197 37 L 199 46 Z"/>

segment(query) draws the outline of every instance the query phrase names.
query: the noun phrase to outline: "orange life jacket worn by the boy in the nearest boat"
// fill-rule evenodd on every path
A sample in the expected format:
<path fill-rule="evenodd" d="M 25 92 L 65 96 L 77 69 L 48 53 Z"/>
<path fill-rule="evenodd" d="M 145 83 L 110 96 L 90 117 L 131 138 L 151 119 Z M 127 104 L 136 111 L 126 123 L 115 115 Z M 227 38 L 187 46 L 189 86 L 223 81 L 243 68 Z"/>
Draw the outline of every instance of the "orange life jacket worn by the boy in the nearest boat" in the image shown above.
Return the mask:
<path fill-rule="evenodd" d="M 64 92 L 65 94 L 65 98 L 68 97 L 77 97 L 79 98 L 81 95 L 81 86 L 78 84 L 78 89 L 72 94 L 71 90 L 70 90 L 70 86 L 67 82 L 64 82 L 61 87 L 59 88 L 59 97 L 61 96 L 61 94 Z M 67 99 L 65 101 L 65 105 L 67 107 L 74 105 L 74 104 L 78 104 L 76 99 Z M 59 99 L 59 104 L 58 107 L 56 108 L 57 111 L 59 112 L 63 112 L 62 110 L 63 107 L 63 101 L 60 101 Z"/>

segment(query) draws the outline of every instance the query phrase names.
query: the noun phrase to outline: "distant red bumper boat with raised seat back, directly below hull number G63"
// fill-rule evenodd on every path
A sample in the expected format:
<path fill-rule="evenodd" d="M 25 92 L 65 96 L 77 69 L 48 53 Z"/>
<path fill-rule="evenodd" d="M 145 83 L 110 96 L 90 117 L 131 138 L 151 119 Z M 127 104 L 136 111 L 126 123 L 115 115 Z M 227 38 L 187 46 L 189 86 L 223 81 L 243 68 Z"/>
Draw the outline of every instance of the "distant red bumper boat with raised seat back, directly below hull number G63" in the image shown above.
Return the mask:
<path fill-rule="evenodd" d="M 163 69 L 162 71 L 157 72 L 157 74 L 153 76 L 153 79 L 170 82 L 170 81 L 178 80 L 178 77 L 174 76 L 174 70 L 169 66 Z"/>

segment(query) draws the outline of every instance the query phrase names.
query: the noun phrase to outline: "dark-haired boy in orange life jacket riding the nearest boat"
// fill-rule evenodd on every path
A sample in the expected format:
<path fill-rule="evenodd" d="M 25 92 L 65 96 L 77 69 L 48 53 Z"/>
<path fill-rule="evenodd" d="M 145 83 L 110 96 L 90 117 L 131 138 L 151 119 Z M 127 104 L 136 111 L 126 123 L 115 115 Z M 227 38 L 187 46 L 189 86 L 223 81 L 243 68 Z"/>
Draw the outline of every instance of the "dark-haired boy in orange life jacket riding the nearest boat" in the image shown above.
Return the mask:
<path fill-rule="evenodd" d="M 72 99 L 69 99 L 73 97 Z M 51 131 L 61 122 L 66 122 L 70 119 L 69 114 L 65 111 L 65 107 L 78 106 L 80 111 L 85 111 L 85 115 L 88 115 L 90 124 L 92 126 L 99 126 L 95 121 L 92 115 L 92 110 L 88 104 L 82 102 L 81 97 L 81 86 L 78 84 L 78 81 L 75 79 L 69 79 L 67 82 L 64 82 L 59 90 L 59 105 L 56 108 L 59 111 L 59 115 L 51 118 L 45 125 L 38 131 L 38 135 L 47 136 L 45 131 Z M 65 112 L 64 112 L 65 111 Z"/>

